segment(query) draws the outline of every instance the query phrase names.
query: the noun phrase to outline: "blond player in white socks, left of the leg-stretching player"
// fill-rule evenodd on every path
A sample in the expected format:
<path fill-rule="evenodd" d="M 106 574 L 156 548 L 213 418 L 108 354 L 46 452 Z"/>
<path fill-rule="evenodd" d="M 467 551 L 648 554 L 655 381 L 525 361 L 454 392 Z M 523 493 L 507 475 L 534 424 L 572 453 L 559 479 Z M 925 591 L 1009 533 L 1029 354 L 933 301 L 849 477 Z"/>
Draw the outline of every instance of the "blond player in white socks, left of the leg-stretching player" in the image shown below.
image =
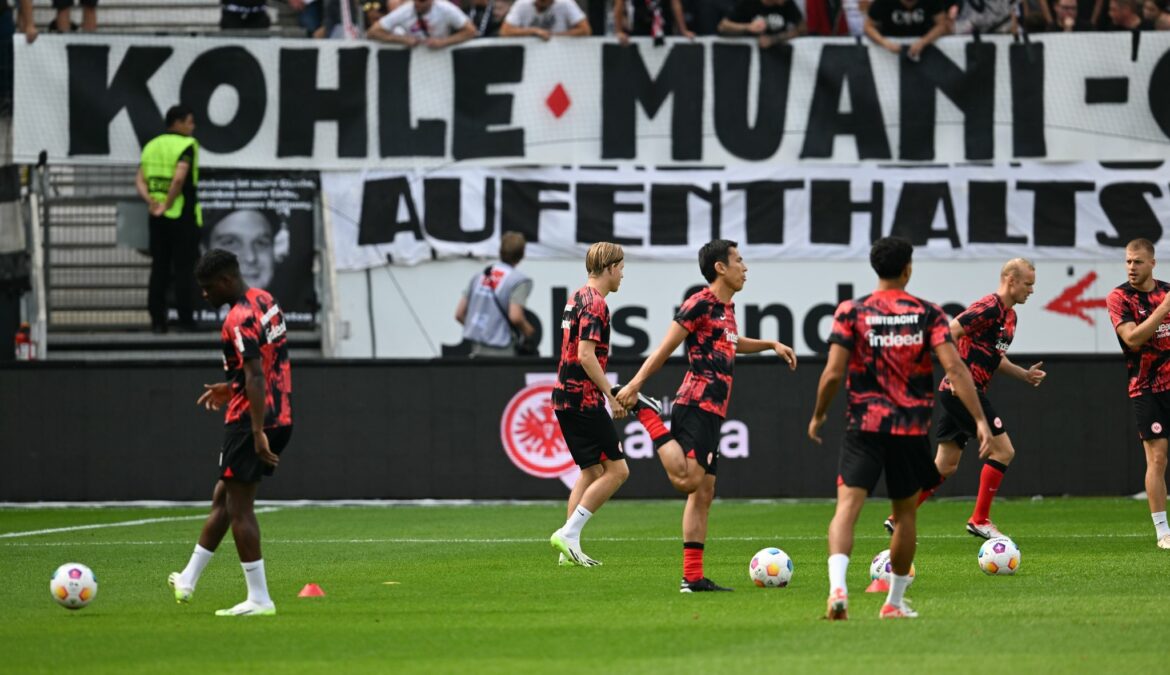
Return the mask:
<path fill-rule="evenodd" d="M 629 477 L 614 419 L 626 408 L 613 398 L 605 366 L 610 360 L 610 308 L 605 296 L 621 287 L 626 268 L 621 247 L 599 241 L 585 256 L 589 281 L 573 292 L 560 319 L 560 364 L 552 388 L 552 408 L 580 475 L 569 494 L 569 516 L 549 543 L 560 551 L 562 565 L 592 567 L 601 563 L 580 547 L 581 528 Z"/>

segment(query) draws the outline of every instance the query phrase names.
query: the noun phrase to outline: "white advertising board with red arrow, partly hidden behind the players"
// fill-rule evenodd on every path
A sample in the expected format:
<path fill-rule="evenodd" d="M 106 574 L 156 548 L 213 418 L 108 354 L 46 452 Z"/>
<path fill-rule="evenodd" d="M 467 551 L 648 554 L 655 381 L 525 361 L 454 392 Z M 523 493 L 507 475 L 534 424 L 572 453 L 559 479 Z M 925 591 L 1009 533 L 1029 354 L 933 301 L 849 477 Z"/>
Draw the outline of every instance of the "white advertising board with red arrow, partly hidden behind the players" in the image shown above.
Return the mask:
<path fill-rule="evenodd" d="M 694 255 L 694 254 L 693 254 Z M 1019 329 L 1009 351 L 1099 353 L 1121 358 L 1104 298 L 1126 282 L 1124 252 L 1108 262 L 1038 261 L 1035 292 L 1016 308 Z M 956 315 L 994 292 L 998 261 L 916 261 L 909 291 Z M 870 292 L 876 277 L 866 261 L 780 261 L 745 256 L 748 282 L 735 297 L 739 333 L 779 339 L 801 357 L 828 351 L 833 311 L 842 299 Z M 342 358 L 457 357 L 462 326 L 455 305 L 483 261 L 440 261 L 386 266 L 337 275 L 335 291 Z M 524 260 L 532 278 L 525 305 L 541 326 L 539 353 L 560 354 L 560 317 L 586 280 L 585 255 L 577 260 Z M 697 260 L 627 260 L 621 288 L 606 297 L 612 317 L 612 353 L 646 357 L 658 346 L 682 301 L 706 284 Z M 679 353 L 682 353 L 680 349 Z M 1027 366 L 1030 364 L 1023 364 Z"/>

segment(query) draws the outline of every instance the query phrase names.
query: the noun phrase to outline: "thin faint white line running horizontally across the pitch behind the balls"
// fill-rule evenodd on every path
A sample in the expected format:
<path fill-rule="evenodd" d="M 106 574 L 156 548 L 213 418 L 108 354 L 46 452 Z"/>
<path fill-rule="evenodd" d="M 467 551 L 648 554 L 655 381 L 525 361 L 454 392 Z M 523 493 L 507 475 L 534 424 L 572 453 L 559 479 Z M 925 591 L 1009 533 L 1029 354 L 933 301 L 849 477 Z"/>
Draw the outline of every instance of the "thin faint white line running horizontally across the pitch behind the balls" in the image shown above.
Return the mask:
<path fill-rule="evenodd" d="M 259 510 L 257 510 L 259 512 Z M 184 518 L 170 518 L 170 519 L 184 519 Z M 158 521 L 152 521 L 158 522 Z M 126 523 L 130 524 L 130 523 Z M 137 523 L 135 523 L 137 524 Z M 111 525 L 112 526 L 112 525 Z M 8 535 L 11 536 L 11 535 Z M 1148 537 L 1149 535 L 1140 533 L 1122 533 L 1122 535 L 1109 535 L 1109 533 L 1081 533 L 1081 535 L 1030 535 L 1023 537 L 1021 540 L 1030 542 L 1035 539 L 1135 539 L 1141 537 Z M 855 537 L 861 540 L 872 539 L 888 539 L 885 535 L 859 535 Z M 920 539 L 971 539 L 970 535 L 923 535 L 918 537 Z M 590 537 L 590 542 L 613 542 L 613 543 L 626 543 L 626 542 L 677 542 L 677 537 Z M 824 535 L 815 536 L 769 536 L 760 535 L 758 537 L 717 537 L 715 542 L 762 542 L 762 540 L 778 540 L 778 542 L 824 542 Z M 186 539 L 178 542 L 159 542 L 159 540 L 140 540 L 140 542 L 84 542 L 87 546 L 173 546 L 178 544 L 187 544 Z M 517 538 L 422 538 L 422 537 L 387 537 L 387 538 L 367 538 L 367 539 L 264 539 L 264 544 L 292 544 L 292 545 L 309 545 L 309 544 L 486 544 L 486 545 L 498 545 L 498 544 L 545 544 L 548 539 L 543 537 L 529 538 L 529 537 L 517 537 Z M 0 542 L 0 546 L 76 546 L 82 544 L 82 542 Z"/>

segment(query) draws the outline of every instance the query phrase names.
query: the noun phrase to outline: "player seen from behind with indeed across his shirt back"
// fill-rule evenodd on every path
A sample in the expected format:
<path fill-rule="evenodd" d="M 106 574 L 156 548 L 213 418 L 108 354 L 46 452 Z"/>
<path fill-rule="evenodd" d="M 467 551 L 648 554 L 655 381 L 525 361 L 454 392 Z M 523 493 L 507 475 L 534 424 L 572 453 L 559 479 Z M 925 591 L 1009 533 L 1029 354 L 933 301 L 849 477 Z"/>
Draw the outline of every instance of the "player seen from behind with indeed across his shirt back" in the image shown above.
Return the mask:
<path fill-rule="evenodd" d="M 845 379 L 848 423 L 838 464 L 837 512 L 828 525 L 830 620 L 848 615 L 845 577 L 853 529 L 882 471 L 897 528 L 889 543 L 889 595 L 879 617 L 917 617 L 904 594 L 916 546 L 918 491 L 938 483 L 927 436 L 934 404 L 931 352 L 975 420 L 980 456 L 991 442 L 971 373 L 951 342 L 947 315 L 938 305 L 906 292 L 913 255 L 914 247 L 904 239 L 888 236 L 873 244 L 869 262 L 878 273 L 878 289 L 838 305 L 828 360 L 808 421 L 808 438 L 820 443 L 828 406 Z"/>

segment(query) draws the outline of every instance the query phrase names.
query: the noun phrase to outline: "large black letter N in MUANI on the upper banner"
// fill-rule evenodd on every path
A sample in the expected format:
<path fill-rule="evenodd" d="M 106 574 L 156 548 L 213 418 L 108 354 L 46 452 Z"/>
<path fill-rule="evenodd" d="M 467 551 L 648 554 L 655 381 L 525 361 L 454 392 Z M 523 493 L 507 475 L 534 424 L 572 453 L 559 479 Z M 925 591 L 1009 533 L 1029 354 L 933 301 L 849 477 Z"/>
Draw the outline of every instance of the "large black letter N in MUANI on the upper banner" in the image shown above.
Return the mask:
<path fill-rule="evenodd" d="M 901 159 L 935 158 L 936 92 L 942 91 L 963 112 L 963 138 L 968 159 L 994 157 L 996 46 L 968 42 L 966 70 L 934 46 L 917 63 L 899 58 Z"/>

